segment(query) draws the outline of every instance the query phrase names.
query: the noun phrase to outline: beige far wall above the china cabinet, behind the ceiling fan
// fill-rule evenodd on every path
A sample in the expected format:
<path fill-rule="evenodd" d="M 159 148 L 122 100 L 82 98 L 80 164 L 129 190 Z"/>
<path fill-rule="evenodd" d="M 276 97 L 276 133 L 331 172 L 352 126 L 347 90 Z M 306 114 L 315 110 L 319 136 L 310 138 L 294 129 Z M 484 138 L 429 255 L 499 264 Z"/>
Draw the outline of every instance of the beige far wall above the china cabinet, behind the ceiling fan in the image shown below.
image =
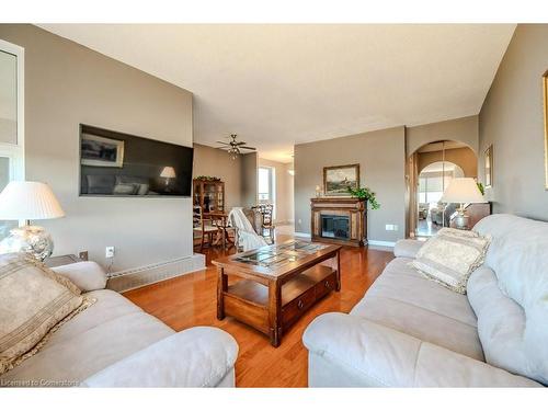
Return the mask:
<path fill-rule="evenodd" d="M 213 147 L 194 145 L 194 168 L 192 175 L 218 176 L 225 182 L 225 207 L 240 206 L 242 187 L 242 160 L 238 157 L 230 159 L 227 151 Z"/>

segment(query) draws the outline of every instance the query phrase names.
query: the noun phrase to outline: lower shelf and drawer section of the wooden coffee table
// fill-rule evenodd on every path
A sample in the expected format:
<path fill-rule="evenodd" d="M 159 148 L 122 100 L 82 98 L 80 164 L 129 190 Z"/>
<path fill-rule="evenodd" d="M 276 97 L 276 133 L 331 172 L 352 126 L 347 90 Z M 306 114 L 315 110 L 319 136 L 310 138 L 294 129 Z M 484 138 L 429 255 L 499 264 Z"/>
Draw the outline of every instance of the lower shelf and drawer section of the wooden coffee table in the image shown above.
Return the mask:
<path fill-rule="evenodd" d="M 272 345 L 279 345 L 283 333 L 297 321 L 316 301 L 331 290 L 339 290 L 336 270 L 315 265 L 294 276 L 281 286 L 281 312 L 272 312 L 270 293 L 276 288 L 252 279 L 240 279 L 222 292 L 222 317 L 231 316 L 271 336 Z M 277 332 L 272 329 L 272 317 L 279 316 Z"/>

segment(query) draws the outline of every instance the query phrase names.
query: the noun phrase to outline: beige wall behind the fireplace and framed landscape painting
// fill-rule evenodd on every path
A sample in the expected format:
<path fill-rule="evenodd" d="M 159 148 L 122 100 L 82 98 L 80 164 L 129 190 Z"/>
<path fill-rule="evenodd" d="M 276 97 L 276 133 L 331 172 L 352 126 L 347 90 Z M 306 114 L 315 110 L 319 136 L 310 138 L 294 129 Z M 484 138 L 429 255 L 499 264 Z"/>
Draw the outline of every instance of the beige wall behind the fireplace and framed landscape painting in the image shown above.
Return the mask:
<path fill-rule="evenodd" d="M 368 238 L 406 237 L 404 127 L 295 146 L 295 230 L 310 232 L 310 197 L 322 185 L 323 167 L 359 163 L 362 185 L 377 193 L 380 209 L 368 212 Z M 398 225 L 386 231 L 385 225 Z"/>

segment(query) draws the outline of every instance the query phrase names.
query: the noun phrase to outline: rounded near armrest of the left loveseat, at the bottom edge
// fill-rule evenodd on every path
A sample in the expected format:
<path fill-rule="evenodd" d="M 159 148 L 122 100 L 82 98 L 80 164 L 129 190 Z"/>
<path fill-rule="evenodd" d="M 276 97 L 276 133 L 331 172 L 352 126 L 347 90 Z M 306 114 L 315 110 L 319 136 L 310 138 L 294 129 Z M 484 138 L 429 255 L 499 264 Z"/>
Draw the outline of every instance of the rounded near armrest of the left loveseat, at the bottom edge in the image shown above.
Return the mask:
<path fill-rule="evenodd" d="M 227 332 L 194 327 L 89 377 L 84 387 L 215 387 L 232 373 L 238 344 Z M 231 381 L 233 385 L 233 381 Z"/>

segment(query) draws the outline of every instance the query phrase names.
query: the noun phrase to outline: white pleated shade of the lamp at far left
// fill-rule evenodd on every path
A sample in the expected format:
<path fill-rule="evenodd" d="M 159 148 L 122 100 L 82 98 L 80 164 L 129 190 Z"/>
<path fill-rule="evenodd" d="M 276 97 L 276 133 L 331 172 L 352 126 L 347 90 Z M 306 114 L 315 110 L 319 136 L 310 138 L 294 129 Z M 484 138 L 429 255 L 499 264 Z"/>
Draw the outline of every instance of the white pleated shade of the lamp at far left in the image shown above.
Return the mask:
<path fill-rule="evenodd" d="M 64 217 L 49 185 L 35 181 L 12 181 L 0 193 L 0 220 L 41 220 Z"/>

